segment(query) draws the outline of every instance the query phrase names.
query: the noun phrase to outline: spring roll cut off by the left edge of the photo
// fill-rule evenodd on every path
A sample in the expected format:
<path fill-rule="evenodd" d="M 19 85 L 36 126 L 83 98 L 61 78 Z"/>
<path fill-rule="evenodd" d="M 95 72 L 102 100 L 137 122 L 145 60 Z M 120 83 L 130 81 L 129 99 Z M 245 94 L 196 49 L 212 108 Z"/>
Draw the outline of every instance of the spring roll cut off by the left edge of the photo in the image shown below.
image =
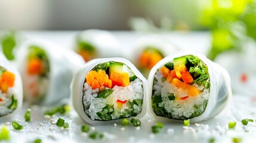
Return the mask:
<path fill-rule="evenodd" d="M 20 108 L 22 101 L 20 73 L 0 54 L 0 117 Z"/>

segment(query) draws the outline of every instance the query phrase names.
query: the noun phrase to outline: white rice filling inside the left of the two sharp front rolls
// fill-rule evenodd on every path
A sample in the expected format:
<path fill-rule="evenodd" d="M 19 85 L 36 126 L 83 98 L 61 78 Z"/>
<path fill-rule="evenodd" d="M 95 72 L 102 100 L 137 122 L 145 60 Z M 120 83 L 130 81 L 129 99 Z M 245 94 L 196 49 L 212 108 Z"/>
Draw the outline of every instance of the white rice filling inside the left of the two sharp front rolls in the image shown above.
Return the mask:
<path fill-rule="evenodd" d="M 122 108 L 118 108 L 117 100 L 121 101 L 134 101 L 134 100 L 143 100 L 143 88 L 142 81 L 140 79 L 135 79 L 130 85 L 122 87 L 122 86 L 114 86 L 113 93 L 109 95 L 107 98 L 95 98 L 97 97 L 97 92 L 99 89 L 92 89 L 87 83 L 84 83 L 84 96 L 82 98 L 82 102 L 84 103 L 85 113 L 90 116 L 92 120 L 102 120 L 98 117 L 97 112 L 102 111 L 103 108 L 108 105 L 113 105 L 114 113 L 111 114 L 112 119 L 119 119 L 119 117 L 127 113 L 128 107 L 127 104 L 123 104 Z M 103 87 L 101 87 L 103 88 Z M 106 88 L 109 89 L 109 88 Z M 141 107 L 137 105 L 133 105 L 134 113 L 140 114 Z M 125 117 L 130 117 L 131 115 L 127 113 Z"/>

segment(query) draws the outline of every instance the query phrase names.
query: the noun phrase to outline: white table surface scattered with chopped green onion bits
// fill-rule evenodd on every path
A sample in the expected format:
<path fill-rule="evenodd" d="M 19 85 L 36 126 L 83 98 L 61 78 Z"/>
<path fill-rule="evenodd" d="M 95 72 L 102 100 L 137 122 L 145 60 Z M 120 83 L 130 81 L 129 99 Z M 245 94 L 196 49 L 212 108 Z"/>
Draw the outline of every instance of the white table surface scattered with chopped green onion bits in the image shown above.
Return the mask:
<path fill-rule="evenodd" d="M 35 31 L 23 32 L 27 39 L 43 38 L 53 41 L 63 48 L 70 48 L 73 43 L 73 36 L 77 32 L 51 32 Z M 129 48 L 132 42 L 146 34 L 134 32 L 112 32 L 124 48 Z M 211 38 L 206 32 L 172 32 L 163 34 L 166 39 L 181 49 L 193 49 L 194 51 L 206 54 Z M 168 122 L 164 123 L 164 129 L 161 133 L 153 134 L 151 127 L 155 125 L 156 120 L 146 115 L 141 121 L 140 129 L 134 129 L 132 125 L 127 127 L 113 125 L 91 126 L 95 130 L 104 133 L 104 138 L 92 140 L 86 133 L 81 132 L 81 125 L 87 124 L 79 118 L 75 111 L 61 116 L 56 114 L 53 120 L 57 121 L 62 117 L 69 123 L 69 130 L 61 129 L 56 125 L 51 125 L 49 119 L 44 118 L 44 110 L 47 107 L 32 105 L 30 107 L 25 103 L 23 108 L 11 116 L 0 119 L 0 125 L 18 120 L 24 126 L 23 130 L 14 130 L 8 125 L 11 134 L 10 142 L 32 142 L 36 138 L 41 138 L 42 142 L 208 142 L 209 138 L 215 138 L 215 142 L 232 142 L 233 137 L 242 138 L 242 142 L 255 142 L 256 122 L 249 123 L 244 127 L 240 120 L 244 118 L 256 119 L 256 100 L 255 97 L 246 95 L 233 95 L 231 110 L 228 113 L 220 114 L 210 120 L 192 124 L 189 128 L 183 128 L 183 123 Z M 24 113 L 27 108 L 31 108 L 31 122 L 24 122 Z M 237 122 L 236 129 L 227 129 L 230 120 Z M 124 128 L 124 130 L 121 130 Z M 246 132 L 249 130 L 249 132 Z M 92 130 L 92 129 L 91 129 Z"/>

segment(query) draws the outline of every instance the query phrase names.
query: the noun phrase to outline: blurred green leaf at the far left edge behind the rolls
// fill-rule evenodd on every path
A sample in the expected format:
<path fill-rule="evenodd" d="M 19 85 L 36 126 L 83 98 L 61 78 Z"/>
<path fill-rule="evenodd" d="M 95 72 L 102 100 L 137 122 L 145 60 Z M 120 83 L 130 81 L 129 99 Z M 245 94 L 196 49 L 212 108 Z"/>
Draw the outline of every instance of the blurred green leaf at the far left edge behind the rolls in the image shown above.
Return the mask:
<path fill-rule="evenodd" d="M 13 49 L 16 46 L 16 39 L 15 39 L 16 32 L 8 31 L 6 32 L 0 39 L 2 45 L 2 52 L 4 52 L 5 57 L 8 60 L 14 60 Z"/>

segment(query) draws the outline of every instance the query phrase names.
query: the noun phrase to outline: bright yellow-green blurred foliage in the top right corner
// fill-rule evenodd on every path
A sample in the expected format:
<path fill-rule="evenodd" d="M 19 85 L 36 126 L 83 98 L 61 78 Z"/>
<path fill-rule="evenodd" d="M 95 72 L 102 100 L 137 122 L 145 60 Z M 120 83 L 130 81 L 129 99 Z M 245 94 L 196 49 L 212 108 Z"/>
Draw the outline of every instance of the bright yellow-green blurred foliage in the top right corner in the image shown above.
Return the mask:
<path fill-rule="evenodd" d="M 240 50 L 246 38 L 256 40 L 256 1 L 212 0 L 203 10 L 202 23 L 211 29 L 208 58 L 214 60 L 221 52 Z"/>

